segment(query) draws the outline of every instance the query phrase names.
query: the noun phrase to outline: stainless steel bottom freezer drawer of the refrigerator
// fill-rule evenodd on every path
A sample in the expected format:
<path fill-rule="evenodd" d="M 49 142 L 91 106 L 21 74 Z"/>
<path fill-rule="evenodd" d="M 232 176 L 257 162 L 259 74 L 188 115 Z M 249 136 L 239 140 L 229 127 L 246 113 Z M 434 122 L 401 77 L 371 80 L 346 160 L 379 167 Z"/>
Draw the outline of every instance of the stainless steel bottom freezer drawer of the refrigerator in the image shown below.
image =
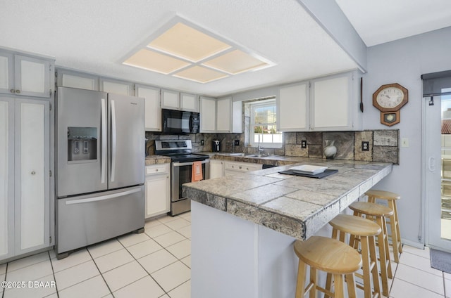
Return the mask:
<path fill-rule="evenodd" d="M 144 227 L 144 186 L 58 200 L 56 252 L 123 235 Z"/>

